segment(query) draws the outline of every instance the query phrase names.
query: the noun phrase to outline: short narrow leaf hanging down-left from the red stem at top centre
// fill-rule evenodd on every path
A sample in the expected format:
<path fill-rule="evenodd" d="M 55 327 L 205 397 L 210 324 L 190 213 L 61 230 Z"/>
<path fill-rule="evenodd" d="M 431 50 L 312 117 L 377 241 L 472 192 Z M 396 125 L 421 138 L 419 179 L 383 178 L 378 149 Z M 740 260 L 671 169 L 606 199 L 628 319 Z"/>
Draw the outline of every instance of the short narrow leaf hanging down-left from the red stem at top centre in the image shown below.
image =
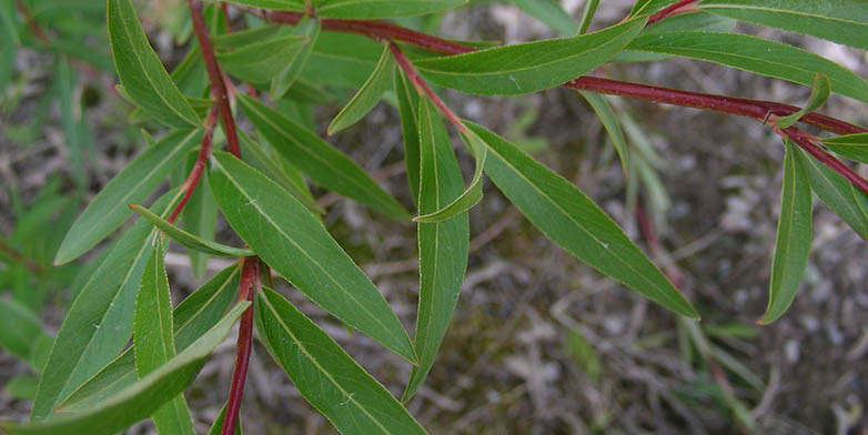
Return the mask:
<path fill-rule="evenodd" d="M 383 53 L 376 63 L 374 72 L 367 78 L 365 84 L 353 95 L 349 103 L 334 117 L 329 124 L 327 133 L 334 134 L 359 122 L 371 109 L 374 109 L 380 98 L 392 84 L 392 71 L 395 69 L 395 60 L 388 45 L 383 47 Z"/>

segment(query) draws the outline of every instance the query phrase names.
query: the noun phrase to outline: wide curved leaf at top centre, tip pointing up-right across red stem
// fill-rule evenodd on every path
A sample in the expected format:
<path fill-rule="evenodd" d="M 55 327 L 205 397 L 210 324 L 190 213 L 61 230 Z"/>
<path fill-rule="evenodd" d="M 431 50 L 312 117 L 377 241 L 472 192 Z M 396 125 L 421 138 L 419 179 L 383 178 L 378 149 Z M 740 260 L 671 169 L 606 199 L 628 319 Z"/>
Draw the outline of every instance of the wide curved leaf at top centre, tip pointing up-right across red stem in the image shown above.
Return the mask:
<path fill-rule="evenodd" d="M 420 72 L 444 88 L 476 94 L 517 95 L 555 88 L 617 54 L 647 20 L 632 19 L 594 33 L 496 47 L 418 60 Z"/>

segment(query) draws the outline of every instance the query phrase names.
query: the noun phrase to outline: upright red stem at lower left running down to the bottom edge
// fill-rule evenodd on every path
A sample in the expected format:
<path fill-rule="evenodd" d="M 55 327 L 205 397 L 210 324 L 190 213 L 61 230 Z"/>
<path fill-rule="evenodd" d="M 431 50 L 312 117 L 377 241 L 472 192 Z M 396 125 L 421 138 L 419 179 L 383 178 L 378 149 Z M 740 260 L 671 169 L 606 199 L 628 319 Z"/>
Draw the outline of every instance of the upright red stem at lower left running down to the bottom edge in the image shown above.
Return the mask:
<path fill-rule="evenodd" d="M 239 284 L 239 297 L 245 301 L 253 301 L 255 289 L 260 285 L 259 259 L 249 256 L 243 261 L 241 271 L 241 283 Z M 244 395 L 244 381 L 248 377 L 248 366 L 250 365 L 250 353 L 253 344 L 253 305 L 251 304 L 244 313 L 241 314 L 239 324 L 239 340 L 235 346 L 235 368 L 232 372 L 232 384 L 229 390 L 229 402 L 226 403 L 226 416 L 223 419 L 222 435 L 233 435 L 235 424 L 241 411 L 241 397 Z"/>

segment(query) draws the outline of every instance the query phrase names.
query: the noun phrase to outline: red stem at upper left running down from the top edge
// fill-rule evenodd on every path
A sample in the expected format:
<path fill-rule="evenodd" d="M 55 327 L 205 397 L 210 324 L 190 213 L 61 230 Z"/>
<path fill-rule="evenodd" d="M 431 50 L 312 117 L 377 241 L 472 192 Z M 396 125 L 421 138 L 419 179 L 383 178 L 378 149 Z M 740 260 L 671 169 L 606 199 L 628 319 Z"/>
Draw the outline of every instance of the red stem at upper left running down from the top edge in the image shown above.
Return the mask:
<path fill-rule="evenodd" d="M 226 83 L 223 81 L 223 72 L 220 70 L 216 57 L 214 55 L 214 45 L 208 34 L 205 18 L 202 16 L 202 2 L 199 0 L 186 0 L 190 6 L 190 17 L 193 21 L 193 31 L 199 40 L 199 47 L 202 49 L 202 59 L 205 61 L 208 79 L 211 82 L 211 93 L 216 97 L 218 107 L 220 107 L 220 119 L 223 123 L 223 130 L 226 133 L 229 152 L 241 159 L 241 146 L 235 132 L 235 121 L 232 118 L 232 108 L 229 104 L 229 93 Z"/>

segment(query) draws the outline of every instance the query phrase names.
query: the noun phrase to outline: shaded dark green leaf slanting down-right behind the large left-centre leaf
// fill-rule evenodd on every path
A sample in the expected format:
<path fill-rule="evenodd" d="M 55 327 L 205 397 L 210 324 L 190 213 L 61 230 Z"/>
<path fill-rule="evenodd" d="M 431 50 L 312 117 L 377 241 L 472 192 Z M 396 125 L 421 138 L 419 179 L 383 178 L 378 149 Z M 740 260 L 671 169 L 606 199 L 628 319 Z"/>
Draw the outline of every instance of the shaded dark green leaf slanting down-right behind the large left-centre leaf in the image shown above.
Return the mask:
<path fill-rule="evenodd" d="M 325 189 L 398 220 L 410 214 L 346 154 L 295 121 L 250 97 L 239 95 L 244 114 L 290 163 Z"/>

